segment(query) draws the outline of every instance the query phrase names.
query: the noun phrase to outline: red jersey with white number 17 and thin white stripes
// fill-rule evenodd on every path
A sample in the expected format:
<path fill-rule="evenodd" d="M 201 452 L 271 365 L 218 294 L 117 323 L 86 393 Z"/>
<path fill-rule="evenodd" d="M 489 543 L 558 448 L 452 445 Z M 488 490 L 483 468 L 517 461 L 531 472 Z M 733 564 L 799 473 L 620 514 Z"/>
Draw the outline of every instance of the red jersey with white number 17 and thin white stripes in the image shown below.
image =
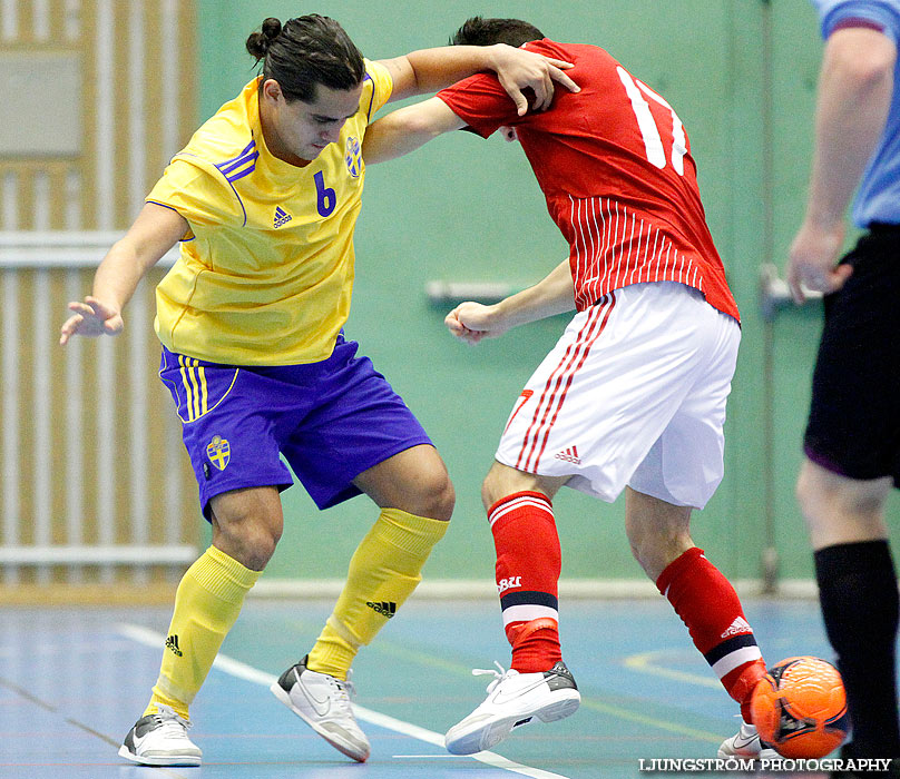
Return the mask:
<path fill-rule="evenodd" d="M 526 48 L 575 63 L 568 72 L 581 91 L 558 87 L 550 110 L 525 117 L 486 73 L 438 97 L 485 138 L 516 128 L 569 243 L 578 310 L 613 289 L 666 280 L 700 289 L 740 319 L 672 106 L 599 47 L 545 38 Z"/>

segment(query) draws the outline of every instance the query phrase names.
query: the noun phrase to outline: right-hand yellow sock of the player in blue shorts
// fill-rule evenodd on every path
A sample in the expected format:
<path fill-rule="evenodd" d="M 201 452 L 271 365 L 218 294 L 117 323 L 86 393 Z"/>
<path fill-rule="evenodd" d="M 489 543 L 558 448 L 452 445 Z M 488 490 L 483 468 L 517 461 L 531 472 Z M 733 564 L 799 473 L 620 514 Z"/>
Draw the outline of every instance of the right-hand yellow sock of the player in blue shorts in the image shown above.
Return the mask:
<path fill-rule="evenodd" d="M 449 522 L 382 509 L 350 561 L 346 583 L 310 652 L 309 668 L 346 679 L 368 644 L 422 580 L 422 566 Z"/>

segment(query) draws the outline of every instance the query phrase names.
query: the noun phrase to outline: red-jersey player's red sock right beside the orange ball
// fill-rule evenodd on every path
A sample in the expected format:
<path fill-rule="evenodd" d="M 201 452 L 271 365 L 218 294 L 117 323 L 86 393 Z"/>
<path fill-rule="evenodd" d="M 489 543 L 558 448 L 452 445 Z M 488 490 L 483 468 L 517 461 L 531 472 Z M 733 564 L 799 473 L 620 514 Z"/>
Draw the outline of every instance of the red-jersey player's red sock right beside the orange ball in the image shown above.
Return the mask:
<path fill-rule="evenodd" d="M 656 586 L 750 722 L 750 693 L 765 674 L 765 663 L 734 588 L 696 546 L 672 562 Z"/>

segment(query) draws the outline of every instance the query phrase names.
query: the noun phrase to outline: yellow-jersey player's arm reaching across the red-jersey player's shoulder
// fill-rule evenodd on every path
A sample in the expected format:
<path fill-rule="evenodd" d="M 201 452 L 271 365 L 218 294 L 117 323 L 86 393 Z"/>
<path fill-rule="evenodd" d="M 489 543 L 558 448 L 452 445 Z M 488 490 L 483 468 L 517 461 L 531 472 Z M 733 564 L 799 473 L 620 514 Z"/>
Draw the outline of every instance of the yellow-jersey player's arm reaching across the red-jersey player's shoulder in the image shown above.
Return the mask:
<path fill-rule="evenodd" d="M 393 79 L 390 100 L 402 100 L 415 95 L 428 95 L 483 70 L 491 70 L 509 97 L 516 102 L 519 116 L 528 111 L 524 90 L 534 91 L 531 108 L 544 110 L 554 99 L 554 81 L 574 92 L 579 87 L 564 71 L 571 62 L 544 57 L 506 43 L 493 46 L 444 46 L 421 49 L 403 57 L 382 60 Z"/>

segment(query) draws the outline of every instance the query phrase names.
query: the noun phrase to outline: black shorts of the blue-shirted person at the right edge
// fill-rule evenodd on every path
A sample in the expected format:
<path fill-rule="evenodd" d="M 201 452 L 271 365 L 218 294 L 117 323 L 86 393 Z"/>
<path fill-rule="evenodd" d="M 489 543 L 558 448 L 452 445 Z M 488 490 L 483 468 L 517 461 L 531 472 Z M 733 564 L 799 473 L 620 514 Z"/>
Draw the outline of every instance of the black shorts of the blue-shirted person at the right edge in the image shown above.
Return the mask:
<path fill-rule="evenodd" d="M 834 473 L 900 486 L 900 226 L 873 226 L 841 263 L 853 274 L 824 299 L 804 450 Z"/>

